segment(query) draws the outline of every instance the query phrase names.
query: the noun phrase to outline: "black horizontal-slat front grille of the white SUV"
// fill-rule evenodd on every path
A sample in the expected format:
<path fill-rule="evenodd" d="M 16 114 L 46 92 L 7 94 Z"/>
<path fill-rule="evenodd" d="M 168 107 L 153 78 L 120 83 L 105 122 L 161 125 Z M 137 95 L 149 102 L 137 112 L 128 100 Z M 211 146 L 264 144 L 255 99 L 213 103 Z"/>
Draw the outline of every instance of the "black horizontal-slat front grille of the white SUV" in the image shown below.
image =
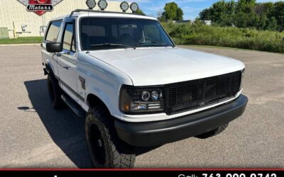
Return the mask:
<path fill-rule="evenodd" d="M 164 86 L 165 113 L 173 115 L 229 100 L 240 90 L 241 72 Z"/>

